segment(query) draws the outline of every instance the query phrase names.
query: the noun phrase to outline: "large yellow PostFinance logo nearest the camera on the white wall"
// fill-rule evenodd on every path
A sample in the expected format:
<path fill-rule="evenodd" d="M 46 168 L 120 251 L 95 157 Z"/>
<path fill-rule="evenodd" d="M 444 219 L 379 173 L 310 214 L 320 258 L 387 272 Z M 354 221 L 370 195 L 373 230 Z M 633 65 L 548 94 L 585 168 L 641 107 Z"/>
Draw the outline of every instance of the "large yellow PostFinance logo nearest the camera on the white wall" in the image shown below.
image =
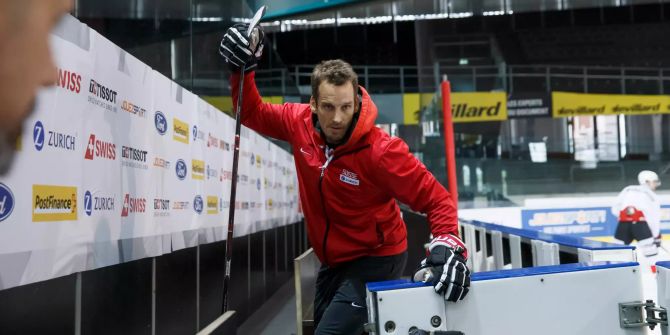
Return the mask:
<path fill-rule="evenodd" d="M 77 188 L 33 185 L 33 222 L 77 220 Z"/>

